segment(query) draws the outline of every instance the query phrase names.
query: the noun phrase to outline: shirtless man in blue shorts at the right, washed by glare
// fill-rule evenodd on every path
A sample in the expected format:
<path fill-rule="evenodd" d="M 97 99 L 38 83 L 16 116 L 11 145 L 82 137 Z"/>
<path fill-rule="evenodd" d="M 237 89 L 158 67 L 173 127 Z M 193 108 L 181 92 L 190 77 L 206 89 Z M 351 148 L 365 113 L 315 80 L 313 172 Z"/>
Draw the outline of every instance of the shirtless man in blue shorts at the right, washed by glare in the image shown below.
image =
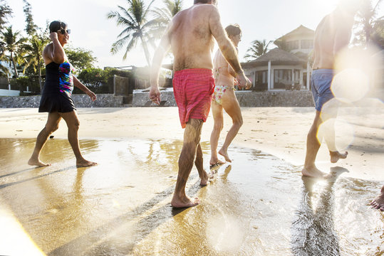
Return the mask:
<path fill-rule="evenodd" d="M 306 159 L 303 170 L 303 176 L 316 178 L 326 177 L 322 171 L 315 166 L 316 155 L 321 145 L 322 138 L 317 138 L 318 128 L 327 119 L 336 118 L 337 106 L 333 112 L 323 114 L 322 107 L 334 95 L 331 91 L 331 82 L 335 75 L 334 63 L 338 53 L 348 46 L 351 40 L 351 31 L 353 27 L 354 16 L 356 14 L 357 3 L 343 0 L 338 7 L 323 18 L 315 31 L 313 48 L 313 71 L 311 76 L 311 90 L 316 107 L 316 117 L 312 127 L 308 132 L 306 142 Z M 335 146 L 334 129 L 331 130 L 331 136 L 325 136 L 331 163 L 336 163 L 338 159 L 345 159 L 348 152 L 340 153 Z"/>

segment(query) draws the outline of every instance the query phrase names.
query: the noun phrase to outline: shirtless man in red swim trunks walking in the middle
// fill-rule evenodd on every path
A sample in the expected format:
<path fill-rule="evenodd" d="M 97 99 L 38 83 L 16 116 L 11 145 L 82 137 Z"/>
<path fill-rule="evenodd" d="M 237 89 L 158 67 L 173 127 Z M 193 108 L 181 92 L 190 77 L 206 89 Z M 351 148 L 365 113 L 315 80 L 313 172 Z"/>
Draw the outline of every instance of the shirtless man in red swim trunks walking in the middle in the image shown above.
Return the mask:
<path fill-rule="evenodd" d="M 214 90 L 212 74 L 212 50 L 216 39 L 220 50 L 237 73 L 240 87 L 251 83 L 240 66 L 237 50 L 227 37 L 220 22 L 217 0 L 194 0 L 189 9 L 180 11 L 170 22 L 157 48 L 151 70 L 150 100 L 159 104 L 158 78 L 162 59 L 168 50 L 175 57 L 173 88 L 182 128 L 185 128 L 182 152 L 179 157 L 179 173 L 172 207 L 197 206 L 198 198 L 189 198 L 185 186 L 193 163 L 201 185 L 207 185 L 208 175 L 203 168 L 200 134 L 207 119 Z"/>

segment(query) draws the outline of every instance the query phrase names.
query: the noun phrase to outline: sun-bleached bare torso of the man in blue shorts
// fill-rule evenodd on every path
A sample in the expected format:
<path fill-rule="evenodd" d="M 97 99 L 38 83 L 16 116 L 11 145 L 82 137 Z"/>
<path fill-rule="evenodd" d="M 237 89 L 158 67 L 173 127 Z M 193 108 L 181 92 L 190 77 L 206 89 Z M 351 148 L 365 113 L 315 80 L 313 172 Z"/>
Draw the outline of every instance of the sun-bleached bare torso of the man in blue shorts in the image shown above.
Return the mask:
<path fill-rule="evenodd" d="M 336 9 L 318 24 L 313 46 L 313 70 L 333 69 L 337 53 L 351 39 L 353 14 Z"/>

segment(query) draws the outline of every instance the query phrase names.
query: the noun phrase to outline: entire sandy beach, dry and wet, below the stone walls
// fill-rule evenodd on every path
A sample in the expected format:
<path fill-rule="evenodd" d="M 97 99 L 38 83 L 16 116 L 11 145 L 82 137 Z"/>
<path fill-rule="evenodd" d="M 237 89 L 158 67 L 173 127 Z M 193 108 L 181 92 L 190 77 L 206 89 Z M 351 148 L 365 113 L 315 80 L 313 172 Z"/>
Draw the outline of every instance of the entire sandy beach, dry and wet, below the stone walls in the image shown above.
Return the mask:
<path fill-rule="evenodd" d="M 318 181 L 300 172 L 311 108 L 244 108 L 233 163 L 203 188 L 192 169 L 187 193 L 202 203 L 175 210 L 176 108 L 80 109 L 90 168 L 76 168 L 64 122 L 42 152 L 52 166 L 28 166 L 46 114 L 0 110 L 0 255 L 381 255 L 384 215 L 368 204 L 384 183 L 384 112 L 358 111 L 341 110 L 355 134 L 348 159 L 320 151 L 336 175 Z"/>

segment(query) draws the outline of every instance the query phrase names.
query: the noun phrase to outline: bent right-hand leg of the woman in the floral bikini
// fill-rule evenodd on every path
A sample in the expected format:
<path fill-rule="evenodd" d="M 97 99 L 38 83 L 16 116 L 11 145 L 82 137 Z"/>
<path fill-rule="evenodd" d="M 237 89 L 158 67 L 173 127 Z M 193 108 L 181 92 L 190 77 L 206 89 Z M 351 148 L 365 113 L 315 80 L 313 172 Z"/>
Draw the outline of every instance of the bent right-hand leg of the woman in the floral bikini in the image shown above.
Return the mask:
<path fill-rule="evenodd" d="M 233 90 L 227 90 L 223 95 L 223 108 L 229 117 L 232 118 L 232 127 L 229 129 L 227 137 L 225 137 L 224 144 L 219 150 L 219 154 L 224 156 L 226 161 L 231 162 L 232 160 L 228 156 L 228 147 L 229 144 L 236 137 L 237 132 L 239 132 L 240 127 L 243 125 L 242 111 L 240 110 L 239 102 L 237 101 L 236 95 Z"/>

